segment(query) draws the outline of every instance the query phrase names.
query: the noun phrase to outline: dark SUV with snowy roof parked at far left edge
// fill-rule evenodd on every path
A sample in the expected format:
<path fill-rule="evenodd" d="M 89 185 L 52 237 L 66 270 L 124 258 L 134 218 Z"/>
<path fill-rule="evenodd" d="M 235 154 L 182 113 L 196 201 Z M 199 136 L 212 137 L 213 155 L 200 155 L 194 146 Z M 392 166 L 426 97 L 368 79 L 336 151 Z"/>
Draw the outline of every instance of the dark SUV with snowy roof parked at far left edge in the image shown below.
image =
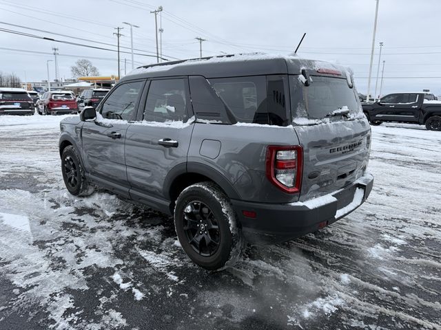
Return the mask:
<path fill-rule="evenodd" d="M 21 88 L 0 87 L 0 115 L 33 115 L 32 99 Z"/>

